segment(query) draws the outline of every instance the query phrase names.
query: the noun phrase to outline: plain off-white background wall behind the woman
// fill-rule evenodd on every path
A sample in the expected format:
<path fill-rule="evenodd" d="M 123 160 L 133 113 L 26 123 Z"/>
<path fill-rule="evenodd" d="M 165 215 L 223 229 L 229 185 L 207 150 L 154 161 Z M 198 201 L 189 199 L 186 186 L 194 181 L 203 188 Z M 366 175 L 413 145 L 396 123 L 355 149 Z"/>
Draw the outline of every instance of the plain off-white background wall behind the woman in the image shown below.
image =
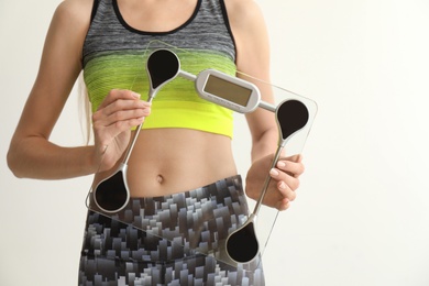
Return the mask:
<path fill-rule="evenodd" d="M 0 0 L 7 286 L 76 285 L 90 177 L 16 179 L 4 160 L 58 2 Z M 428 0 L 258 2 L 273 82 L 319 105 L 299 196 L 280 213 L 265 253 L 267 285 L 429 285 Z M 77 110 L 74 91 L 52 138 L 57 144 L 84 142 Z M 235 133 L 245 174 L 242 117 Z"/>

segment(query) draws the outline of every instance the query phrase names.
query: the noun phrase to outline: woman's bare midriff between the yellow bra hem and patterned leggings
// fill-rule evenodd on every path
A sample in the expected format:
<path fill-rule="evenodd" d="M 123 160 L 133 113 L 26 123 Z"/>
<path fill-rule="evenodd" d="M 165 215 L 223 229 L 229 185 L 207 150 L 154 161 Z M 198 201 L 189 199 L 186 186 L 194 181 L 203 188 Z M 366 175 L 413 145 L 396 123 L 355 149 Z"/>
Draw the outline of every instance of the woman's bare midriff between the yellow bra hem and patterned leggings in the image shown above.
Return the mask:
<path fill-rule="evenodd" d="M 116 170 L 96 175 L 95 185 Z M 231 139 L 187 129 L 142 130 L 128 163 L 131 197 L 191 190 L 237 175 Z"/>

